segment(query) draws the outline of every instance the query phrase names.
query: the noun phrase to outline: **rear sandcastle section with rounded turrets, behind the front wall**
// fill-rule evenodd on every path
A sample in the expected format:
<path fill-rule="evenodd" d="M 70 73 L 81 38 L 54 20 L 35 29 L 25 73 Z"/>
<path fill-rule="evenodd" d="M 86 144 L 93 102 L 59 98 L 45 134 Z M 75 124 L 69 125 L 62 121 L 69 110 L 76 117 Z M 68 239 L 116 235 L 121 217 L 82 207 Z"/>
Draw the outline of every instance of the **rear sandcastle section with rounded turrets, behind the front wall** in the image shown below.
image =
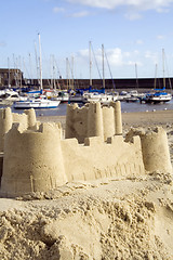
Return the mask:
<path fill-rule="evenodd" d="M 101 103 L 89 103 L 82 108 L 77 104 L 67 106 L 66 139 L 76 138 L 84 143 L 85 138 L 101 136 L 103 140 L 122 134 L 121 104 L 111 102 L 102 107 Z"/>

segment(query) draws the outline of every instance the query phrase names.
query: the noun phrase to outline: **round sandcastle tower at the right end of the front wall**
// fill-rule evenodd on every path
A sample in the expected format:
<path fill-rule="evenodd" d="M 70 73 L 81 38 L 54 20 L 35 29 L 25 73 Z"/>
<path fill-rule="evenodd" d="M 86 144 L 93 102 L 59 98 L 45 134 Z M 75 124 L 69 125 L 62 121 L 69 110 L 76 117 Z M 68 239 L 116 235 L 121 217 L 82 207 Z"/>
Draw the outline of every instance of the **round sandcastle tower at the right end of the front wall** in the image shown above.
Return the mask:
<path fill-rule="evenodd" d="M 167 132 L 157 127 L 154 131 L 131 129 L 127 134 L 127 141 L 132 136 L 139 135 L 144 166 L 147 171 L 172 172 Z"/>

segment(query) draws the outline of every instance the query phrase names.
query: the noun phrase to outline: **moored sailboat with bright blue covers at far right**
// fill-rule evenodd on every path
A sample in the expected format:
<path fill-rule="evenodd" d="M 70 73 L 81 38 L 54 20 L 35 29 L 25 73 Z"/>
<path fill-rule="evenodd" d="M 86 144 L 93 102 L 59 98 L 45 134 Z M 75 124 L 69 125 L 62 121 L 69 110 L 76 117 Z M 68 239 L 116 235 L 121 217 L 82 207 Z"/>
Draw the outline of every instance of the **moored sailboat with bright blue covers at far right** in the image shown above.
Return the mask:
<path fill-rule="evenodd" d="M 143 98 L 143 102 L 145 103 L 164 103 L 172 100 L 172 94 L 168 93 L 165 91 L 165 77 L 164 77 L 164 49 L 162 49 L 162 60 L 163 60 L 163 88 L 162 89 L 156 89 L 156 77 L 155 77 L 155 91 L 152 93 L 146 94 L 145 98 Z"/>

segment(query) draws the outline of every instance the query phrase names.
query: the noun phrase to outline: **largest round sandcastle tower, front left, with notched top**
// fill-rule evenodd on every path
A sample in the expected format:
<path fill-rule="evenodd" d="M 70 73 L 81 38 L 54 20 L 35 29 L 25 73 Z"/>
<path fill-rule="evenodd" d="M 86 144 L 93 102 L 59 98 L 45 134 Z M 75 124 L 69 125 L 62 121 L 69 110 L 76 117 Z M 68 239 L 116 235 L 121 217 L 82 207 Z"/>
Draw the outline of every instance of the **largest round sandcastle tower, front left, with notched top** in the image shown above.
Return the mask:
<path fill-rule="evenodd" d="M 57 126 L 42 123 L 37 131 L 18 129 L 18 123 L 13 123 L 5 135 L 1 194 L 14 197 L 46 192 L 66 183 Z"/>

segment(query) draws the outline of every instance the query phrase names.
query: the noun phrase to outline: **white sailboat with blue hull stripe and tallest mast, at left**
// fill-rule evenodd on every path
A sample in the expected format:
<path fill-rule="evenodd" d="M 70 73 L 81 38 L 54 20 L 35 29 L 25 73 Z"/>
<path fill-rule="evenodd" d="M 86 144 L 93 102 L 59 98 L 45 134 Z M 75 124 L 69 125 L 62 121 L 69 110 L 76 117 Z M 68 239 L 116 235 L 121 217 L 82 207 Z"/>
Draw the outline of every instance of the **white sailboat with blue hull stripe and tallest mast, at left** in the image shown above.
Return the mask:
<path fill-rule="evenodd" d="M 40 43 L 40 34 L 39 34 L 39 50 L 40 50 L 40 94 L 37 96 L 29 96 L 26 101 L 16 101 L 13 104 L 15 109 L 29 109 L 29 108 L 56 108 L 61 101 L 49 100 L 43 95 L 43 86 L 42 86 L 42 61 L 41 61 L 41 43 Z"/>

